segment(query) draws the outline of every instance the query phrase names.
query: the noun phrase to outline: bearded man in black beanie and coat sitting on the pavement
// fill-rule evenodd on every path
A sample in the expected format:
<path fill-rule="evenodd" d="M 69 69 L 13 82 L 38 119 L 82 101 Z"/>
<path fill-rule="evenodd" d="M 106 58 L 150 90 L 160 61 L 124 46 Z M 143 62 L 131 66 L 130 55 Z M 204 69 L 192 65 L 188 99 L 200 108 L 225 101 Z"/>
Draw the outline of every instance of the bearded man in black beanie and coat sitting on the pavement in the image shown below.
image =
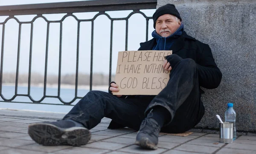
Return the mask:
<path fill-rule="evenodd" d="M 172 50 L 163 67 L 170 79 L 158 95 L 112 95 L 118 85 L 111 82 L 108 92 L 90 91 L 62 119 L 29 126 L 29 135 L 46 146 L 81 146 L 90 140 L 90 129 L 104 117 L 111 118 L 109 129 L 129 127 L 139 130 L 135 144 L 157 149 L 159 132 L 181 133 L 192 129 L 204 115 L 200 87 L 217 88 L 222 74 L 207 44 L 186 34 L 179 12 L 172 4 L 153 15 L 153 39 L 139 50 Z"/>

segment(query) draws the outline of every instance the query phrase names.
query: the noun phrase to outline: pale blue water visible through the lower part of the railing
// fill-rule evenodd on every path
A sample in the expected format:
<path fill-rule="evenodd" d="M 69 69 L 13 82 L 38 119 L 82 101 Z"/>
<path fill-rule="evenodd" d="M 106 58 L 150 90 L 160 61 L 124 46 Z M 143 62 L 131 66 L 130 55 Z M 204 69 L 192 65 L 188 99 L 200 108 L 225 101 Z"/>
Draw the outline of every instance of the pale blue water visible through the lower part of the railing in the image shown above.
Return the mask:
<path fill-rule="evenodd" d="M 106 91 L 107 90 L 102 90 Z M 89 90 L 78 89 L 77 95 L 79 97 L 83 97 L 87 94 Z M 18 87 L 17 94 L 27 94 L 28 88 L 27 87 Z M 11 99 L 15 94 L 15 87 L 14 86 L 3 86 L 2 87 L 2 95 L 6 99 Z M 35 101 L 41 100 L 44 95 L 44 88 L 42 87 L 31 87 L 30 88 L 30 95 Z M 58 95 L 58 88 L 47 88 L 46 95 L 57 96 Z M 69 102 L 72 101 L 75 97 L 75 89 L 61 89 L 60 97 L 63 101 Z M 72 105 L 75 105 L 80 99 L 76 99 Z M 0 97 L 0 101 L 3 99 Z M 32 104 L 32 101 L 26 96 L 17 96 L 13 101 L 15 102 L 29 102 L 29 103 L 7 103 L 7 102 L 0 102 L 0 108 L 2 109 L 22 109 L 22 110 L 35 110 L 35 111 L 43 111 L 43 112 L 61 112 L 67 113 L 73 106 L 67 105 L 48 105 L 48 104 Z M 30 104 L 31 103 L 31 104 Z M 44 98 L 41 103 L 51 103 L 51 104 L 63 104 L 59 101 L 58 98 Z"/>

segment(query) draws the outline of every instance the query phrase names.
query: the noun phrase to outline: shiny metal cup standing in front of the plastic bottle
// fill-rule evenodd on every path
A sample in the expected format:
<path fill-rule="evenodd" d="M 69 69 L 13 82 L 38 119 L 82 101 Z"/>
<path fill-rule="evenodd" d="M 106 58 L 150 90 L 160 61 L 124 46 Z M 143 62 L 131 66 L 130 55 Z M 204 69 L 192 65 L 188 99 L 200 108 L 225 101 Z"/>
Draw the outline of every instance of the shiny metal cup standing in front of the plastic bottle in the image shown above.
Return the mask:
<path fill-rule="evenodd" d="M 233 143 L 233 123 L 220 123 L 220 143 Z"/>

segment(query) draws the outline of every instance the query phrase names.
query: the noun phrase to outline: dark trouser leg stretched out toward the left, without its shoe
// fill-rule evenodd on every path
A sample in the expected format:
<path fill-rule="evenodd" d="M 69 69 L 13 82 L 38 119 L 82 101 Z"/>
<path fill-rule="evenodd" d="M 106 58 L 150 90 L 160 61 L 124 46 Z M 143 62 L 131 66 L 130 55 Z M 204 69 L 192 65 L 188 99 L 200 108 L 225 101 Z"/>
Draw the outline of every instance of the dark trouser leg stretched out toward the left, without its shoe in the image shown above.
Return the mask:
<path fill-rule="evenodd" d="M 137 98 L 118 98 L 108 92 L 90 91 L 63 119 L 77 121 L 87 129 L 92 129 L 102 118 L 107 117 L 138 130 L 149 103 Z"/>

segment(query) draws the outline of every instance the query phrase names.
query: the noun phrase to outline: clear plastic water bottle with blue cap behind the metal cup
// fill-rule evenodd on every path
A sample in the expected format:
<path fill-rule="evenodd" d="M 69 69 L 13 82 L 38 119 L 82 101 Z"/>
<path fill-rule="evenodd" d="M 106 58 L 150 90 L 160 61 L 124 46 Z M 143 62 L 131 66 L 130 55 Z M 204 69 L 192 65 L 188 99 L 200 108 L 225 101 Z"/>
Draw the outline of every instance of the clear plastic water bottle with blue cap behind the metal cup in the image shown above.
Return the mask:
<path fill-rule="evenodd" d="M 225 112 L 225 122 L 233 123 L 233 140 L 236 140 L 236 112 L 233 109 L 233 103 L 227 104 L 227 110 Z"/>

